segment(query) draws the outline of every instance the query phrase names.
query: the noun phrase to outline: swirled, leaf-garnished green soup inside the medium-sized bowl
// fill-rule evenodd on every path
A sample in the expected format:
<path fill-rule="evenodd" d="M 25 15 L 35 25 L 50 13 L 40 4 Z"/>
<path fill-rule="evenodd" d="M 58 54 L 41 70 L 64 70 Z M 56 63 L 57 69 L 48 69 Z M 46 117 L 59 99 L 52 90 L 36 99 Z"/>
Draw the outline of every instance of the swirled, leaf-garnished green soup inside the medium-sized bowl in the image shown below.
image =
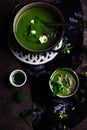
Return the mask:
<path fill-rule="evenodd" d="M 54 95 L 67 96 L 76 89 L 75 75 L 64 69 L 57 69 L 51 77 L 51 85 Z"/>

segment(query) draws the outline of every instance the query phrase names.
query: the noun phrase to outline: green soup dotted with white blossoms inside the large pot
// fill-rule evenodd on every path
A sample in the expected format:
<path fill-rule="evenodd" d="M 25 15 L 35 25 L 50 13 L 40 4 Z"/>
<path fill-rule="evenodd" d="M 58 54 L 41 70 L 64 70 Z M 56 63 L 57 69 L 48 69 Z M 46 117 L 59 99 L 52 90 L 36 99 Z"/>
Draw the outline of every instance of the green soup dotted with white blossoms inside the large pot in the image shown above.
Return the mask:
<path fill-rule="evenodd" d="M 60 33 L 58 29 L 48 27 L 45 23 L 58 21 L 58 16 L 50 8 L 31 7 L 19 16 L 15 27 L 16 37 L 28 50 L 47 49 L 57 41 Z"/>

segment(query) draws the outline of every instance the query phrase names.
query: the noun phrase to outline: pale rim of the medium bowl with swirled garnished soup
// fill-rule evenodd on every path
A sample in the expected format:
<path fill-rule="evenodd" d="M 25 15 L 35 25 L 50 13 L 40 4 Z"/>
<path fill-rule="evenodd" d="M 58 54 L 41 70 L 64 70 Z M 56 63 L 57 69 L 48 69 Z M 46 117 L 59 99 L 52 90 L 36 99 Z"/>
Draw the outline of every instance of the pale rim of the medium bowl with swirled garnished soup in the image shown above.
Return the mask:
<path fill-rule="evenodd" d="M 75 90 L 74 90 L 71 94 L 66 95 L 66 96 L 61 96 L 61 95 L 58 95 L 58 94 L 57 94 L 56 96 L 57 96 L 57 97 L 60 97 L 60 98 L 68 98 L 68 97 L 73 96 L 73 95 L 78 91 L 78 89 L 79 89 L 79 82 L 80 82 L 80 81 L 79 81 L 79 77 L 78 77 L 76 71 L 73 70 L 73 69 L 71 69 L 71 68 L 57 68 L 56 70 L 53 71 L 53 73 L 51 74 L 50 79 L 49 79 L 49 87 L 50 87 L 50 90 L 53 92 L 52 85 L 51 85 L 51 78 L 52 78 L 52 76 L 57 72 L 58 69 L 64 69 L 64 70 L 67 70 L 67 71 L 71 72 L 72 74 L 74 74 L 74 76 L 76 77 L 76 80 L 77 80 L 77 81 L 76 81 L 76 82 L 77 82 L 77 85 L 76 85 Z"/>

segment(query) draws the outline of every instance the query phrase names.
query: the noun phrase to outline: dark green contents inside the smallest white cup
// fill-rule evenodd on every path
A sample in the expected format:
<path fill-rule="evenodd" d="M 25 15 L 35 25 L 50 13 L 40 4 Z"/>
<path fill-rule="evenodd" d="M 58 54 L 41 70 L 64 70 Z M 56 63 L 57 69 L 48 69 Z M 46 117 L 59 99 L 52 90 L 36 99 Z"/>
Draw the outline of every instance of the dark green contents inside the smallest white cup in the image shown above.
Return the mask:
<path fill-rule="evenodd" d="M 12 80 L 15 84 L 20 85 L 24 82 L 25 77 L 21 72 L 18 72 L 14 74 Z"/>

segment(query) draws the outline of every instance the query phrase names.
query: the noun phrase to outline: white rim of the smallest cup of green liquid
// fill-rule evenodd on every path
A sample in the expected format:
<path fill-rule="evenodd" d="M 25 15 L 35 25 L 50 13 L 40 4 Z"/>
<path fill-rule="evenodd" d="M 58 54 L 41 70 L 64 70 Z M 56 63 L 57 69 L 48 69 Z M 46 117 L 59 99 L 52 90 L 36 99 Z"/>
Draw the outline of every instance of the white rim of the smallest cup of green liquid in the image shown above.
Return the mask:
<path fill-rule="evenodd" d="M 22 73 L 22 74 L 24 75 L 24 81 L 23 81 L 22 84 L 15 84 L 15 83 L 12 81 L 12 76 L 13 76 L 14 74 L 18 73 L 18 72 L 20 72 L 20 73 Z M 21 69 L 15 69 L 15 70 L 13 70 L 13 71 L 10 73 L 10 75 L 9 75 L 9 81 L 10 81 L 10 83 L 11 83 L 14 87 L 22 87 L 22 86 L 26 83 L 26 81 L 27 81 L 27 75 L 26 75 L 26 73 L 25 73 L 23 70 L 21 70 Z"/>

